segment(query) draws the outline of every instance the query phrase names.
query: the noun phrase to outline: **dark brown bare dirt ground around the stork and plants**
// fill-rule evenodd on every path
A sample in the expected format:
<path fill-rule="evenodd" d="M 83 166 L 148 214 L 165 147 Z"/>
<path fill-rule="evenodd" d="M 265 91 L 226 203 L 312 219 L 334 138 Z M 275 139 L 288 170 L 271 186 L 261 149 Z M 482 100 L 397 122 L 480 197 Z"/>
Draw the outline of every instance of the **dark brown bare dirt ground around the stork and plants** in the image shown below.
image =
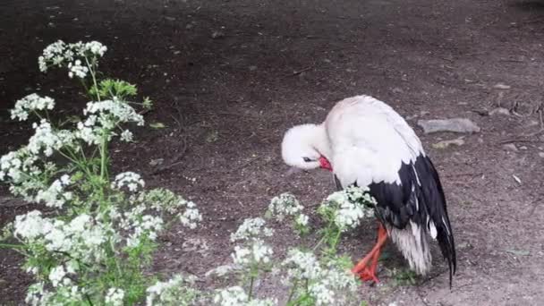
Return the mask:
<path fill-rule="evenodd" d="M 370 305 L 544 304 L 541 0 L 3 1 L 2 154 L 30 132 L 9 120 L 17 98 L 47 94 L 58 99 L 60 115 L 79 112 L 86 102 L 64 72 L 38 72 L 37 56 L 58 38 L 105 43 L 106 72 L 156 101 L 147 121 L 166 129 L 140 129 L 137 143 L 115 149 L 115 169 L 139 172 L 149 185 L 170 187 L 200 205 L 205 224 L 184 236 L 178 228 L 163 236 L 155 270 L 202 275 L 226 264 L 233 247 L 228 234 L 281 192 L 316 208 L 334 183 L 324 172 L 285 178 L 282 134 L 293 124 L 322 121 L 341 98 L 368 94 L 413 127 L 419 119 L 466 117 L 481 132 L 465 135 L 461 146 L 434 149 L 460 135 L 424 135 L 416 127 L 446 189 L 458 249 L 453 289 L 437 250 L 430 276 L 397 284 L 388 271 L 405 263 L 389 248 L 382 282 L 363 285 L 361 299 Z M 497 106 L 513 114 L 489 115 Z M 157 171 L 149 165 L 157 158 L 174 166 Z M 0 225 L 30 208 L 0 206 Z M 276 228 L 278 250 L 299 243 Z M 375 230 L 374 223 L 362 225 L 342 251 L 357 259 L 370 250 Z M 20 264 L 17 254 L 0 251 L 2 304 L 23 301 L 30 278 Z M 263 284 L 259 290 L 276 289 Z"/>

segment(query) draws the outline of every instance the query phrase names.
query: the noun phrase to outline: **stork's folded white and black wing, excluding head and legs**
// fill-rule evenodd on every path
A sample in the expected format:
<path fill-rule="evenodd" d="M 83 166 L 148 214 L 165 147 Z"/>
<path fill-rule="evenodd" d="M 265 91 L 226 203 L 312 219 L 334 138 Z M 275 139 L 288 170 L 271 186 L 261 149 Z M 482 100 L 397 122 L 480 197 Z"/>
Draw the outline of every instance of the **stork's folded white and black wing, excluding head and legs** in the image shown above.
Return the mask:
<path fill-rule="evenodd" d="M 325 124 L 340 184 L 368 186 L 383 222 L 400 229 L 413 222 L 436 238 L 451 281 L 455 242 L 444 191 L 408 123 L 385 103 L 360 96 L 339 102 Z"/>

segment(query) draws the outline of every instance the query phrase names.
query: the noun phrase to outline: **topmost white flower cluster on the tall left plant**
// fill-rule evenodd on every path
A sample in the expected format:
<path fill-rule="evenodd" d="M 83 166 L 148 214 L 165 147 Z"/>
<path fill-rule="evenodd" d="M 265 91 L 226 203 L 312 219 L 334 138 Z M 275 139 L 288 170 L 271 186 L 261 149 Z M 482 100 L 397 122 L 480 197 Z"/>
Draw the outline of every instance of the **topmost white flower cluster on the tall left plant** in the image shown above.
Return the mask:
<path fill-rule="evenodd" d="M 44 49 L 43 55 L 38 57 L 38 66 L 41 72 L 47 72 L 49 65 L 68 67 L 68 76 L 72 78 L 74 75 L 83 79 L 87 76 L 89 68 L 81 64 L 81 59 L 88 57 L 101 57 L 106 53 L 107 47 L 98 41 L 88 43 L 77 42 L 66 44 L 62 40 L 47 46 Z"/>

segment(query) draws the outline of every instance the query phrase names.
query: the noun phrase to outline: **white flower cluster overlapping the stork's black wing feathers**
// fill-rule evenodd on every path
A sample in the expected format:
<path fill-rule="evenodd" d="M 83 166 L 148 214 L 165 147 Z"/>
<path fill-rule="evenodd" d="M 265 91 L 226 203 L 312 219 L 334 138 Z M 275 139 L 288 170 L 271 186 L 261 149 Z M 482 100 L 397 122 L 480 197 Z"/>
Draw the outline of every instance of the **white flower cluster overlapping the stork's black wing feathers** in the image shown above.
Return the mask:
<path fill-rule="evenodd" d="M 357 227 L 361 219 L 374 216 L 375 201 L 359 187 L 336 191 L 321 204 L 321 209 L 334 211 L 334 222 L 342 232 Z"/>

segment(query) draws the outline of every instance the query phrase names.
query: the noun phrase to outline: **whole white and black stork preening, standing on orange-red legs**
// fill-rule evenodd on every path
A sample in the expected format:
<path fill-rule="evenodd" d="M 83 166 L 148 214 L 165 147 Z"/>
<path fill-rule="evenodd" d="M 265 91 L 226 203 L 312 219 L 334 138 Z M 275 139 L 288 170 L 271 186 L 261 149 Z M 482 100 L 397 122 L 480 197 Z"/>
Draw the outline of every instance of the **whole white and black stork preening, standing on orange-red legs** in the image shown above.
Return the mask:
<path fill-rule="evenodd" d="M 377 242 L 352 268 L 355 275 L 379 282 L 378 259 L 390 238 L 410 268 L 425 276 L 432 239 L 448 264 L 451 288 L 457 261 L 444 189 L 421 140 L 391 106 L 367 95 L 344 98 L 323 123 L 288 129 L 281 151 L 292 169 L 328 170 L 337 190 L 366 187 L 376 200 Z"/>

